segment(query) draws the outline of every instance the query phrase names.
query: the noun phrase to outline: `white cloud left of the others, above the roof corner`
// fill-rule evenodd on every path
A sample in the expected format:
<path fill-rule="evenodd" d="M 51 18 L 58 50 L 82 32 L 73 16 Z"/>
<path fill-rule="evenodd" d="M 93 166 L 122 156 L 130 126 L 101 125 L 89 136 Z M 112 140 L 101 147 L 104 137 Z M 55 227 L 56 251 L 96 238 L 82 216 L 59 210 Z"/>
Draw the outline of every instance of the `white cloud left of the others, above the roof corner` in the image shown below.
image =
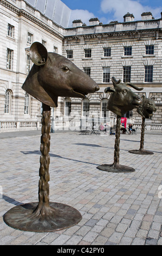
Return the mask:
<path fill-rule="evenodd" d="M 94 17 L 94 14 L 90 13 L 88 10 L 71 10 L 70 22 L 68 25 L 71 27 L 74 20 L 82 20 L 83 23 L 89 25 L 89 20 Z"/>

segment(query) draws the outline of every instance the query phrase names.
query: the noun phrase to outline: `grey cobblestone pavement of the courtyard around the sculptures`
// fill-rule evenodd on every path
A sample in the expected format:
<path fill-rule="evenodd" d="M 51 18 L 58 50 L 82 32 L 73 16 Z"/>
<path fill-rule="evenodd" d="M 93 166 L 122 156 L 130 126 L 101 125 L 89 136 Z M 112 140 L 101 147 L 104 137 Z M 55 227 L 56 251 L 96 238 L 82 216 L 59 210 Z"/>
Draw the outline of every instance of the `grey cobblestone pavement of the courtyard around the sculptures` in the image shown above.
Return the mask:
<path fill-rule="evenodd" d="M 31 133 L 32 135 L 32 133 Z M 38 201 L 40 134 L 1 134 L 0 245 L 162 245 L 161 133 L 121 135 L 120 164 L 133 173 L 108 173 L 96 167 L 113 163 L 115 136 L 51 134 L 49 197 L 82 214 L 71 228 L 34 233 L 10 228 L 3 215 L 20 203 Z"/>

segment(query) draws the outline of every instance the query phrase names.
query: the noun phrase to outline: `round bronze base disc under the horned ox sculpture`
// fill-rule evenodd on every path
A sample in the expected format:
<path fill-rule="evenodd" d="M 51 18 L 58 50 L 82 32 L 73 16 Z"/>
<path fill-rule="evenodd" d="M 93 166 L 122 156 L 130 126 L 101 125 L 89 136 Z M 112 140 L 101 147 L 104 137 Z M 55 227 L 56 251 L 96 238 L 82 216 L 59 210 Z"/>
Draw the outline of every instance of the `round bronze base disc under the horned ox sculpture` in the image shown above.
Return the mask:
<path fill-rule="evenodd" d="M 135 172 L 135 169 L 128 166 L 120 166 L 118 168 L 115 168 L 113 164 L 101 164 L 101 166 L 98 166 L 97 169 L 104 170 L 105 172 L 111 172 L 111 173 L 129 173 L 129 172 Z"/>

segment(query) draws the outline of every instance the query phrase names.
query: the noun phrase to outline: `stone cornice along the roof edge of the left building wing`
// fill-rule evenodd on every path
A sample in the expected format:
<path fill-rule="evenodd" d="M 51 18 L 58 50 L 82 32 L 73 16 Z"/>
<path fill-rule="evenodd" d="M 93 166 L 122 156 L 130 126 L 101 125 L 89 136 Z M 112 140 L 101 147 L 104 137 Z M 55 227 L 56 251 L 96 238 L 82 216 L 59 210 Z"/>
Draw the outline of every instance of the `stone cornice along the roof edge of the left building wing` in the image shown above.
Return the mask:
<path fill-rule="evenodd" d="M 34 16 L 30 15 L 23 9 L 18 9 L 16 8 L 13 4 L 5 1 L 5 0 L 0 0 L 0 4 L 2 4 L 5 8 L 8 8 L 9 10 L 13 11 L 15 14 L 17 14 L 19 17 L 23 16 L 26 17 L 28 20 L 34 22 L 36 25 L 40 26 L 41 28 L 45 29 L 49 33 L 57 36 L 57 38 L 63 40 L 64 36 L 55 32 L 52 28 L 49 26 L 45 25 L 45 23 L 41 22 L 40 20 L 36 19 Z"/>

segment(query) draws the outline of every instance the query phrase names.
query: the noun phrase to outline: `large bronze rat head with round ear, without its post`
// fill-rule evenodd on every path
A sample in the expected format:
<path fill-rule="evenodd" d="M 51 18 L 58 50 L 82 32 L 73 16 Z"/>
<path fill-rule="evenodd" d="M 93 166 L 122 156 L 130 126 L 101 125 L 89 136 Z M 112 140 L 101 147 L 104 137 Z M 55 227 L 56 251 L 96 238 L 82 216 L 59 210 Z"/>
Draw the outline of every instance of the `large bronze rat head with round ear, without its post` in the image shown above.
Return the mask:
<path fill-rule="evenodd" d="M 51 107 L 58 106 L 58 96 L 81 97 L 99 90 L 98 85 L 65 57 L 47 52 L 40 42 L 30 47 L 34 63 L 22 89 Z"/>

